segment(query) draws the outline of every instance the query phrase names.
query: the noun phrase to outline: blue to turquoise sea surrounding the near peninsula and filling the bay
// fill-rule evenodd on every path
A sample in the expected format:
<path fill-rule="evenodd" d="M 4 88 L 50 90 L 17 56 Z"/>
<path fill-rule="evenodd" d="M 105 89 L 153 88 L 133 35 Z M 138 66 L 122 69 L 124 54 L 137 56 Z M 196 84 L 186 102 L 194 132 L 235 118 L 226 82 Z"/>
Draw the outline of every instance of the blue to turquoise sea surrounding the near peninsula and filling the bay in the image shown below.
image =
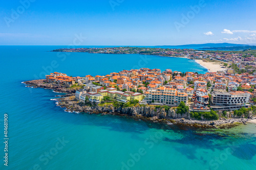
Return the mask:
<path fill-rule="evenodd" d="M 193 60 L 143 55 L 54 53 L 66 46 L 0 46 L 0 169 L 256 169 L 256 125 L 196 130 L 132 118 L 65 112 L 49 89 L 23 81 L 59 71 L 106 75 L 140 67 L 207 70 Z M 4 114 L 8 114 L 8 166 Z"/>

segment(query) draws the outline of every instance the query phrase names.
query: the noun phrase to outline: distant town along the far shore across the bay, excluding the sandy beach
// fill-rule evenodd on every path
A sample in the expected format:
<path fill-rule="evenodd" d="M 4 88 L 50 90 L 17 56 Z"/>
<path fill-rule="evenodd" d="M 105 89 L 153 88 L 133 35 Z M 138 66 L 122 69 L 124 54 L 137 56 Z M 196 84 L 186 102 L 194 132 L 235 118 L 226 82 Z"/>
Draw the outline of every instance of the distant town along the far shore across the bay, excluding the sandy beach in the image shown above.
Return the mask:
<path fill-rule="evenodd" d="M 229 68 L 234 70 L 233 73 L 251 72 L 256 70 L 256 50 L 243 51 L 196 51 L 193 49 L 170 49 L 159 47 L 94 47 L 94 48 L 61 48 L 53 52 L 86 52 L 100 54 L 141 54 L 141 55 L 158 55 L 164 57 L 185 57 L 189 59 L 202 59 L 206 62 L 221 61 Z M 254 73 L 256 74 L 256 72 Z"/>

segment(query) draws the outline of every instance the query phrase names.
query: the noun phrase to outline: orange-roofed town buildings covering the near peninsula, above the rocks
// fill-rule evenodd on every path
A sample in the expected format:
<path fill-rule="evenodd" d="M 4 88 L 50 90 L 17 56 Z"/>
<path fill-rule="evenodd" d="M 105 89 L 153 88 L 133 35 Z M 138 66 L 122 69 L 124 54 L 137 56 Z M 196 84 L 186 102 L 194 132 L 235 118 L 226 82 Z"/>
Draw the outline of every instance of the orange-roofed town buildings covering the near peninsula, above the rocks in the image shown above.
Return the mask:
<path fill-rule="evenodd" d="M 95 77 L 54 72 L 46 76 L 46 81 L 79 87 L 75 98 L 83 103 L 131 102 L 168 107 L 184 103 L 190 112 L 223 113 L 250 108 L 256 102 L 256 76 L 232 74 L 230 70 L 198 74 L 140 68 Z"/>

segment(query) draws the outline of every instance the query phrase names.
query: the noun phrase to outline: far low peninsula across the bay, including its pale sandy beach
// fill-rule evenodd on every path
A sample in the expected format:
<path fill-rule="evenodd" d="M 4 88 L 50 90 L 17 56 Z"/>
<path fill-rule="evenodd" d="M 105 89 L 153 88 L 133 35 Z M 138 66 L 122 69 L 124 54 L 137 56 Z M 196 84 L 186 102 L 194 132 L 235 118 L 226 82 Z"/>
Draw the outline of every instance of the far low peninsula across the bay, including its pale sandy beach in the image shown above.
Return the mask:
<path fill-rule="evenodd" d="M 156 55 L 162 57 L 183 57 L 196 60 L 208 71 L 222 71 L 229 65 L 237 64 L 241 68 L 256 68 L 256 50 L 244 51 L 196 51 L 193 49 L 176 49 L 160 47 L 94 47 L 94 48 L 60 48 L 52 52 L 76 52 L 96 54 L 140 54 Z M 241 70 L 242 72 L 243 70 Z"/>

